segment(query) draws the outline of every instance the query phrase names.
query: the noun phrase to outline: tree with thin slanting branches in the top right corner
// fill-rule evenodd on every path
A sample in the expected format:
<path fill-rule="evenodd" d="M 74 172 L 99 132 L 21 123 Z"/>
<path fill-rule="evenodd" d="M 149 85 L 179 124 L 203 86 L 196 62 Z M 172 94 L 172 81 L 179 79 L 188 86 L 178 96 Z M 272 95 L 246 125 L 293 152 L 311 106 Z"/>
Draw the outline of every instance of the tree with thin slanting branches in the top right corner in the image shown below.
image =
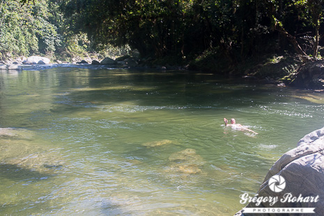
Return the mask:
<path fill-rule="evenodd" d="M 291 42 L 303 61 L 318 56 L 323 7 L 321 0 L 270 1 L 272 26 Z"/>

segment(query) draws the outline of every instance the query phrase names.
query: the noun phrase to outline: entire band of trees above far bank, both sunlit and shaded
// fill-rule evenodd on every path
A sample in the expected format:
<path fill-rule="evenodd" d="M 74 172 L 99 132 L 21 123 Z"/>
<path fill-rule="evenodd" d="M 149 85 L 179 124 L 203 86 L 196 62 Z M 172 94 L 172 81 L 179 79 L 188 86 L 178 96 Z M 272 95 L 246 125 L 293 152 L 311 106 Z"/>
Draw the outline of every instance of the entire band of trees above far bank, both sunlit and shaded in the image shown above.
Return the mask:
<path fill-rule="evenodd" d="M 321 58 L 321 0 L 1 1 L 0 52 L 91 52 L 129 45 L 141 57 L 231 68 L 266 54 Z M 226 61 L 224 61 L 226 59 Z"/>

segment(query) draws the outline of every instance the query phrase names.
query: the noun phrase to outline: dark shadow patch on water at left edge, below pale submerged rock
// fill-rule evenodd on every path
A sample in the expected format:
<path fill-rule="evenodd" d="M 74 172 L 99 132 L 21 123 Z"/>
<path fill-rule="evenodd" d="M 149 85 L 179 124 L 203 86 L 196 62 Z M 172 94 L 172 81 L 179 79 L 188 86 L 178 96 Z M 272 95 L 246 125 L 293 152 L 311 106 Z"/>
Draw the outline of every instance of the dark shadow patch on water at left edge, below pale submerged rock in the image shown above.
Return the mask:
<path fill-rule="evenodd" d="M 10 180 L 44 180 L 49 178 L 46 173 L 40 173 L 33 169 L 23 168 L 17 164 L 0 164 L 0 178 Z"/>

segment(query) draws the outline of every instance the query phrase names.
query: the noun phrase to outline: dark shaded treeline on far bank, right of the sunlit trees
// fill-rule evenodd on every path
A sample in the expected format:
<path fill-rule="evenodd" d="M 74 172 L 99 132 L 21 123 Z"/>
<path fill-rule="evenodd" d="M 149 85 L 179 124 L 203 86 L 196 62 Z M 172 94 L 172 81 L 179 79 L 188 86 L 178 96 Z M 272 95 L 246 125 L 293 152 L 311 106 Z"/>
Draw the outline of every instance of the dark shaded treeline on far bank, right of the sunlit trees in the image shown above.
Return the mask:
<path fill-rule="evenodd" d="M 55 6 L 61 18 L 49 23 L 63 43 L 86 33 L 93 50 L 130 45 L 142 57 L 182 60 L 213 52 L 228 65 L 263 54 L 295 53 L 303 61 L 321 54 L 321 0 L 36 1 Z"/>

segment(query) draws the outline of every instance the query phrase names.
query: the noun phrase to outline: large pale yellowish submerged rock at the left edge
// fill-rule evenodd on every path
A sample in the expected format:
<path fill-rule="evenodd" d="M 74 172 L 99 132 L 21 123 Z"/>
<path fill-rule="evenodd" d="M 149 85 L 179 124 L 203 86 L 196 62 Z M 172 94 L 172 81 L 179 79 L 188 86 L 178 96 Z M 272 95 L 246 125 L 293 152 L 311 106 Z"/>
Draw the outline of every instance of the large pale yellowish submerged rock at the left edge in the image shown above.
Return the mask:
<path fill-rule="evenodd" d="M 16 128 L 0 128 L 0 166 L 18 173 L 49 173 L 63 167 L 64 161 L 57 152 L 34 142 L 33 132 Z M 22 176 L 24 177 L 24 176 Z"/>

